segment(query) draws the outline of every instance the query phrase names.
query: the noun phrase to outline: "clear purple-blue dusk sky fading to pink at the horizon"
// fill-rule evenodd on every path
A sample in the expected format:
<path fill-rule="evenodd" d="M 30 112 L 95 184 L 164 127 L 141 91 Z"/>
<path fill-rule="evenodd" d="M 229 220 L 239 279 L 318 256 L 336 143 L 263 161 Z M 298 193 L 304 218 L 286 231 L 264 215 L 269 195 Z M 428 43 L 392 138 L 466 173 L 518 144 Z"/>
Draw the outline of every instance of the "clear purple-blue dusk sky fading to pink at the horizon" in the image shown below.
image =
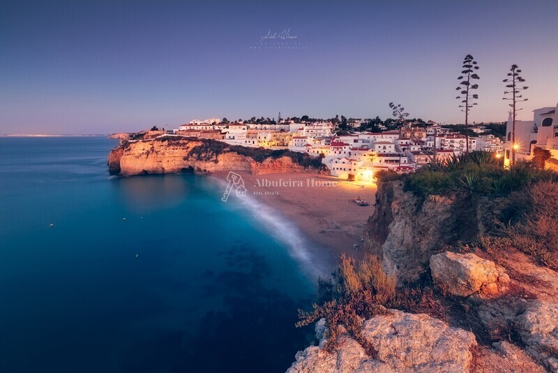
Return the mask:
<path fill-rule="evenodd" d="M 466 54 L 481 77 L 470 121 L 507 119 L 511 64 L 529 86 L 518 118 L 532 119 L 558 103 L 557 14 L 556 0 L 1 1 L 0 133 L 386 119 L 391 101 L 462 123 Z"/>

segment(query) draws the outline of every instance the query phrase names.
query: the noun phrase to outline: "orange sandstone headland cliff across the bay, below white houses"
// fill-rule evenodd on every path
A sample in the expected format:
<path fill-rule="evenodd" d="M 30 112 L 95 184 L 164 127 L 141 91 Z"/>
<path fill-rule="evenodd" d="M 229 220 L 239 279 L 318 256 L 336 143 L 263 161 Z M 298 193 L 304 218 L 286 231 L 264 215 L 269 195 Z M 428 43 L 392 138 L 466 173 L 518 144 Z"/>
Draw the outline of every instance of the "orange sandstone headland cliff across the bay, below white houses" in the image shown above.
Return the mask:
<path fill-rule="evenodd" d="M 126 176 L 229 170 L 249 171 L 254 175 L 324 171 L 321 160 L 308 154 L 171 136 L 123 142 L 110 152 L 108 166 L 111 174 Z"/>

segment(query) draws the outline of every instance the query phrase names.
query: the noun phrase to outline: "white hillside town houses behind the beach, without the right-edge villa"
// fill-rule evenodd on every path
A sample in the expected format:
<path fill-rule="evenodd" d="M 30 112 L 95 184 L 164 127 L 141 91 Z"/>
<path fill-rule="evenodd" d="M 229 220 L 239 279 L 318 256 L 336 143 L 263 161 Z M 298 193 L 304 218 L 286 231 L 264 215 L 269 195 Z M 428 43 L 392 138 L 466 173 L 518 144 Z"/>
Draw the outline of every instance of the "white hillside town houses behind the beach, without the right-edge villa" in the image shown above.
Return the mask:
<path fill-rule="evenodd" d="M 356 126 L 356 125 L 355 125 Z M 360 123 L 359 123 L 360 126 Z M 469 138 L 469 150 L 500 154 L 502 142 L 485 129 L 473 127 L 478 137 Z M 288 148 L 321 156 L 331 175 L 348 180 L 372 180 L 377 170 L 412 172 L 432 159 L 467 151 L 464 135 L 429 122 L 426 128 L 406 126 L 379 133 L 334 135 L 332 122 L 234 122 L 218 118 L 193 120 L 174 131 L 179 136 L 212 138 L 231 145 Z"/>

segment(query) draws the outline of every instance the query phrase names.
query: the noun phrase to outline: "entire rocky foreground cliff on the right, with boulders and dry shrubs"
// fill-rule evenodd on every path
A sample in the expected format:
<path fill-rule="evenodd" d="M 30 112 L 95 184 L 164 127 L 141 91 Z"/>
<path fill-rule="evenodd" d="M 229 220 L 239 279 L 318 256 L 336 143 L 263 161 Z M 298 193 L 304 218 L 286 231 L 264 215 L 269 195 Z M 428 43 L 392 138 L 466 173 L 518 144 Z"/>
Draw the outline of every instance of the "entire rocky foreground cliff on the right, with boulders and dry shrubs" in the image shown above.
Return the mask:
<path fill-rule="evenodd" d="M 318 344 L 299 351 L 288 371 L 558 372 L 558 182 L 433 194 L 409 189 L 412 177 L 379 183 L 365 231 L 366 249 L 398 280 L 395 295 L 374 300 L 383 277 L 342 263 L 338 282 L 318 291 L 326 301 L 313 311 L 326 318 L 316 325 Z M 510 211 L 519 212 L 512 224 L 498 224 Z M 369 282 L 365 307 L 389 312 L 362 316 L 354 299 Z M 345 287 L 359 290 L 323 298 Z"/>

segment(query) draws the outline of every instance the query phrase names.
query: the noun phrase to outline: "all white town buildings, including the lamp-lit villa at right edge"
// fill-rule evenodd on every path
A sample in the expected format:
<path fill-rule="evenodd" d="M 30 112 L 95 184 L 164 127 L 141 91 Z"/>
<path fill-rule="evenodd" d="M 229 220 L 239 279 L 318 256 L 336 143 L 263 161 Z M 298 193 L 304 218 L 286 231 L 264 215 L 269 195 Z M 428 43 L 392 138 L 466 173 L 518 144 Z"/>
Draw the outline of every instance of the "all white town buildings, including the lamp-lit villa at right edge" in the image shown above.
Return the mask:
<path fill-rule="evenodd" d="M 359 127 L 360 123 L 352 123 Z M 482 125 L 471 126 L 476 136 L 465 135 L 448 126 L 428 122 L 423 126 L 404 126 L 398 130 L 345 132 L 334 134 L 332 122 L 275 121 L 225 122 L 219 118 L 193 120 L 179 129 L 167 131 L 176 136 L 211 138 L 231 145 L 290 149 L 320 156 L 331 175 L 348 180 L 372 180 L 378 170 L 407 173 L 433 160 L 474 150 L 504 156 L 504 165 L 515 159 L 531 159 L 534 147 L 548 149 L 558 168 L 558 105 L 534 110 L 533 121 L 515 121 L 515 143 L 512 140 L 513 120 L 508 119 L 506 139 L 501 140 Z M 515 150 L 515 152 L 514 152 Z"/>

